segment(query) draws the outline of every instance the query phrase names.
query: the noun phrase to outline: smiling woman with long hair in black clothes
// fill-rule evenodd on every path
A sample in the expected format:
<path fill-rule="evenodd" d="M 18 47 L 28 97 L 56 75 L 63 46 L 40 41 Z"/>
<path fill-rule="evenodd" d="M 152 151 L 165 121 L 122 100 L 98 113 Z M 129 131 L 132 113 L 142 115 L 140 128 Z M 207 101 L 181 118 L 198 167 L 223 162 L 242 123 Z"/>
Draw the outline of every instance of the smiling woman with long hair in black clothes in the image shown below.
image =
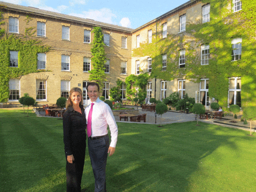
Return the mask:
<path fill-rule="evenodd" d="M 70 90 L 63 114 L 63 141 L 66 155 L 67 192 L 81 192 L 86 148 L 86 118 L 82 90 Z"/>

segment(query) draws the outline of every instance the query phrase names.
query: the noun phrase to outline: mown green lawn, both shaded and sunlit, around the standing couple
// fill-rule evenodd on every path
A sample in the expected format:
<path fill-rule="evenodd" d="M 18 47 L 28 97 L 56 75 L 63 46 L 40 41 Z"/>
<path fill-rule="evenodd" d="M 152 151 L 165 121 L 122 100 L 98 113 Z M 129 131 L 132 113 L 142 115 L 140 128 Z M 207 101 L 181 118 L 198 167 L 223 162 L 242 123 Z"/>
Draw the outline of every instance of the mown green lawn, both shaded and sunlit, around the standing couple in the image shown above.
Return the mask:
<path fill-rule="evenodd" d="M 118 123 L 109 192 L 255 192 L 256 137 L 199 122 Z M 254 134 L 255 136 L 255 134 Z M 0 191 L 64 192 L 62 120 L 0 110 Z M 84 192 L 94 191 L 88 152 Z"/>

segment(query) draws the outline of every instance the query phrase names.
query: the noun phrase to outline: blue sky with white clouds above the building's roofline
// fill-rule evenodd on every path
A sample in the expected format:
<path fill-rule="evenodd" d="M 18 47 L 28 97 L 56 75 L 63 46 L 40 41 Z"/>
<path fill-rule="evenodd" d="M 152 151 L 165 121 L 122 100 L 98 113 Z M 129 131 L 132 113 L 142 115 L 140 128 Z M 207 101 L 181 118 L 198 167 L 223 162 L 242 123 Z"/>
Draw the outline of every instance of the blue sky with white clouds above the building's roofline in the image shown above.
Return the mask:
<path fill-rule="evenodd" d="M 188 0 L 0 0 L 128 28 L 138 28 Z"/>

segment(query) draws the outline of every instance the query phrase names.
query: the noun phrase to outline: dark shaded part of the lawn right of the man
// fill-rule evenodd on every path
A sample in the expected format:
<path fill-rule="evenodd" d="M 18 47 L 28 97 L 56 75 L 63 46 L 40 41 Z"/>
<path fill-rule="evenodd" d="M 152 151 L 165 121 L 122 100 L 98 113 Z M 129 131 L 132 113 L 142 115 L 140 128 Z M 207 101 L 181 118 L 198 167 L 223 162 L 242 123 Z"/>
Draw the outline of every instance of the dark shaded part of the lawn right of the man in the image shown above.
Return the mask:
<path fill-rule="evenodd" d="M 208 128 L 210 127 L 210 128 Z M 214 127 L 214 128 L 213 128 Z M 204 159 L 231 136 L 217 135 L 215 125 L 194 122 L 156 125 L 119 125 L 116 154 L 108 157 L 109 191 L 188 190 L 189 177 Z"/>

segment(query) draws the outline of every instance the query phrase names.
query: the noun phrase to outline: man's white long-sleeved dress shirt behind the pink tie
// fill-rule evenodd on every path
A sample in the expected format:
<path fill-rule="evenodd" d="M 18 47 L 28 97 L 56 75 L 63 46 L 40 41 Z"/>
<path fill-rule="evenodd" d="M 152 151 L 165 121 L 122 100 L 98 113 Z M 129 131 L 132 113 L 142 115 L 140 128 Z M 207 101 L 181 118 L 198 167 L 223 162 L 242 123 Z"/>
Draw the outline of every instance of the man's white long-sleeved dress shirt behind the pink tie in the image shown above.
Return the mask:
<path fill-rule="evenodd" d="M 108 134 L 107 127 L 109 126 L 111 133 L 110 147 L 115 147 L 117 144 L 117 123 L 115 122 L 115 117 L 110 109 L 109 105 L 102 102 L 99 98 L 93 102 L 93 112 L 91 117 L 91 137 L 102 136 Z M 91 109 L 91 101 L 89 105 L 85 108 L 86 122 L 88 122 L 88 114 Z"/>

